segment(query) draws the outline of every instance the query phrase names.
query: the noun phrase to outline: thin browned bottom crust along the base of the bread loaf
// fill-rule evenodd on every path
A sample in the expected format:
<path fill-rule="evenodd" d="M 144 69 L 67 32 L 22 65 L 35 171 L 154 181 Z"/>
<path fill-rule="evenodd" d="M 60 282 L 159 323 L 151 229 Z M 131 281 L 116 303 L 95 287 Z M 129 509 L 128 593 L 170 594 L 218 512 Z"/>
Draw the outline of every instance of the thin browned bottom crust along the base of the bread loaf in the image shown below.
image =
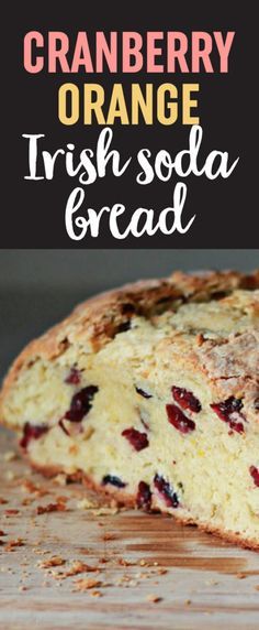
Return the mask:
<path fill-rule="evenodd" d="M 42 475 L 44 475 L 45 477 L 55 477 L 56 475 L 58 475 L 59 472 L 64 474 L 64 470 L 58 468 L 58 467 L 54 467 L 54 466 L 41 466 L 38 464 L 35 464 L 34 461 L 30 461 L 32 468 L 34 468 L 34 470 L 36 470 L 37 472 L 41 472 Z M 93 481 L 93 479 L 89 476 L 89 475 L 85 475 L 81 471 L 77 471 L 75 475 L 66 475 L 66 478 L 70 481 L 79 481 L 81 482 L 83 486 L 86 486 L 89 490 L 93 490 L 94 492 L 98 493 L 99 498 L 102 498 L 103 502 L 111 502 L 111 500 L 113 502 L 115 502 L 115 504 L 120 508 L 122 506 L 131 509 L 131 508 L 137 508 L 136 504 L 136 497 L 133 495 L 127 495 L 126 492 L 123 492 L 122 489 L 116 489 L 116 488 L 112 488 L 110 487 L 108 489 L 108 487 L 103 487 L 100 484 L 97 484 L 95 481 Z M 153 510 L 154 512 L 159 511 L 162 514 L 167 514 L 169 515 L 169 513 L 167 511 L 164 511 L 160 509 L 160 507 L 155 507 L 155 509 Z M 224 530 L 221 530 L 219 528 L 215 528 L 211 524 L 207 523 L 198 523 L 194 522 L 193 519 L 189 519 L 189 518 L 183 518 L 178 515 L 178 513 L 174 511 L 173 514 L 170 512 L 170 515 L 176 519 L 176 521 L 182 525 L 195 525 L 198 528 L 198 530 L 209 533 L 209 534 L 214 534 L 218 537 L 221 537 L 223 541 L 225 541 L 226 543 L 230 543 L 230 544 L 235 544 L 238 545 L 243 548 L 249 548 L 251 551 L 259 551 L 259 542 L 257 540 L 244 540 L 241 534 L 238 533 L 232 533 L 232 532 L 225 532 Z"/>

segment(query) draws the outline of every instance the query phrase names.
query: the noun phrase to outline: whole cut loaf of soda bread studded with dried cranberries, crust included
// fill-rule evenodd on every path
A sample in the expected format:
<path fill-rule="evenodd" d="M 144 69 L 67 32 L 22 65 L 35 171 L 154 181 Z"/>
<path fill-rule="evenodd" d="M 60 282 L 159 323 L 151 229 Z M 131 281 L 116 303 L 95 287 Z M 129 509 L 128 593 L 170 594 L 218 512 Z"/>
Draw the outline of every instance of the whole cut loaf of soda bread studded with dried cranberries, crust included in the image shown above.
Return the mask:
<path fill-rule="evenodd" d="M 80 305 L 11 368 L 32 465 L 259 548 L 259 273 L 176 273 Z"/>

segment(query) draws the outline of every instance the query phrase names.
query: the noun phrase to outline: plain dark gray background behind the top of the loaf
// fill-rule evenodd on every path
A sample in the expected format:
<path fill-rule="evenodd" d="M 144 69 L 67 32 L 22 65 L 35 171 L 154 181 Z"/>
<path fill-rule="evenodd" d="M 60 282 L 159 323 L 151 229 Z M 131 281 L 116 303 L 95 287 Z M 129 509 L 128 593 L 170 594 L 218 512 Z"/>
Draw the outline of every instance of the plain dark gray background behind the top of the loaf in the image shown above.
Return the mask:
<path fill-rule="evenodd" d="M 259 267 L 259 250 L 2 250 L 0 377 L 16 352 L 91 294 L 176 269 Z"/>

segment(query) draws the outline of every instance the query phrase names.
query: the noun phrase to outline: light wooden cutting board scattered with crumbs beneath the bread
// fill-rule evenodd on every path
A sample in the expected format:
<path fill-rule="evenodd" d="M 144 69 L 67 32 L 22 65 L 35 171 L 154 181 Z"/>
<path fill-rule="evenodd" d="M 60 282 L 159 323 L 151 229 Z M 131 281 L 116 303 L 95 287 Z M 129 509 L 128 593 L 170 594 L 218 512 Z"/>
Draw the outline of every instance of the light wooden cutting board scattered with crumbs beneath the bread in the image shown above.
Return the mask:
<path fill-rule="evenodd" d="M 12 459 L 7 432 L 0 444 L 1 629 L 259 628 L 259 554 L 171 518 L 99 512 L 81 486 Z"/>

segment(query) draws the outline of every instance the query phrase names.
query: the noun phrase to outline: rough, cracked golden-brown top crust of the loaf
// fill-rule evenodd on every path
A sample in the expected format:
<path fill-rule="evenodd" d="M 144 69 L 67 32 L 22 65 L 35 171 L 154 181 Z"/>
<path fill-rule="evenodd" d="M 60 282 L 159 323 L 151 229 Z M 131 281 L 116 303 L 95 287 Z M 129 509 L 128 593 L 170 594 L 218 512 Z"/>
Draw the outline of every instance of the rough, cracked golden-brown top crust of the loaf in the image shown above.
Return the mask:
<path fill-rule="evenodd" d="M 54 361 L 74 344 L 98 352 L 135 326 L 154 332 L 159 352 L 202 370 L 218 397 L 246 389 L 249 415 L 259 420 L 259 271 L 174 272 L 88 300 L 21 352 L 4 380 L 2 401 L 20 371 L 38 358 Z"/>

